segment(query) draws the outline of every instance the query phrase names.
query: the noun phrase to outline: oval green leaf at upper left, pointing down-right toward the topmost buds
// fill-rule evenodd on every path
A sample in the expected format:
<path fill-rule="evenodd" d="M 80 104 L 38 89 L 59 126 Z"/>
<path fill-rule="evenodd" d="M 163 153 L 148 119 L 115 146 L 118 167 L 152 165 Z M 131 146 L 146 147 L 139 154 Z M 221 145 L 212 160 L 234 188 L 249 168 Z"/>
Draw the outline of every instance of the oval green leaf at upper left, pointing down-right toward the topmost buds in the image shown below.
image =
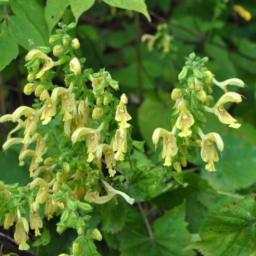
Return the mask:
<path fill-rule="evenodd" d="M 28 39 L 33 39 L 37 46 L 44 46 L 45 42 L 42 39 L 39 31 L 28 20 L 10 15 L 8 16 L 9 31 L 14 40 L 24 47 L 26 50 L 30 50 Z"/>

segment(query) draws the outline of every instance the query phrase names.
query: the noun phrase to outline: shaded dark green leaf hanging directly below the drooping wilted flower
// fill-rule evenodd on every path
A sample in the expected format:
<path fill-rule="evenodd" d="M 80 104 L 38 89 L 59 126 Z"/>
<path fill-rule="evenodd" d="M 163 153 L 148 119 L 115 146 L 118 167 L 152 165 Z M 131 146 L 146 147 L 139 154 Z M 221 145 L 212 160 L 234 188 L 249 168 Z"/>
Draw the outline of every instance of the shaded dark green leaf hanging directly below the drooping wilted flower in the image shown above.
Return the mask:
<path fill-rule="evenodd" d="M 118 199 L 118 204 L 115 205 L 115 200 L 110 200 L 105 204 L 98 205 L 97 209 L 101 215 L 102 230 L 106 232 L 118 232 L 122 230 L 126 221 L 126 202 Z"/>

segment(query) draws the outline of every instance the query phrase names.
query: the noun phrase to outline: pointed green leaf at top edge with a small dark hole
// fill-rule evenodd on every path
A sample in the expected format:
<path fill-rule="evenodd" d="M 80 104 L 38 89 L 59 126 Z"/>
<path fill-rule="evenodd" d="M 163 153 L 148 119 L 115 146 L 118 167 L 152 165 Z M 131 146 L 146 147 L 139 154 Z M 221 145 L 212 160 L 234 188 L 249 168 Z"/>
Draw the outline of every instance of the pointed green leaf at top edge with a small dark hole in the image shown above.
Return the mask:
<path fill-rule="evenodd" d="M 61 16 L 69 6 L 69 0 L 47 0 L 45 6 L 45 19 L 51 34 L 54 26 L 59 22 Z"/>

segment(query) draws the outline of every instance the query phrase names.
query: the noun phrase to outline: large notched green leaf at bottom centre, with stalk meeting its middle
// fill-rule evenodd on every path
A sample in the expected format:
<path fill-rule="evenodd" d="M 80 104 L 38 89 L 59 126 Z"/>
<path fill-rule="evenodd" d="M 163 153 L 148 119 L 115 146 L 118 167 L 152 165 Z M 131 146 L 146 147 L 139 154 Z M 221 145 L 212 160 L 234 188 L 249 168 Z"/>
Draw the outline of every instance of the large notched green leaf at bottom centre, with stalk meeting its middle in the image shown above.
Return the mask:
<path fill-rule="evenodd" d="M 121 256 L 189 256 L 195 255 L 193 250 L 183 252 L 183 248 L 190 243 L 190 234 L 186 229 L 185 202 L 174 207 L 158 218 L 153 225 L 153 237 L 134 230 L 132 224 L 127 223 L 119 234 Z M 141 223 L 142 219 L 137 220 Z"/>

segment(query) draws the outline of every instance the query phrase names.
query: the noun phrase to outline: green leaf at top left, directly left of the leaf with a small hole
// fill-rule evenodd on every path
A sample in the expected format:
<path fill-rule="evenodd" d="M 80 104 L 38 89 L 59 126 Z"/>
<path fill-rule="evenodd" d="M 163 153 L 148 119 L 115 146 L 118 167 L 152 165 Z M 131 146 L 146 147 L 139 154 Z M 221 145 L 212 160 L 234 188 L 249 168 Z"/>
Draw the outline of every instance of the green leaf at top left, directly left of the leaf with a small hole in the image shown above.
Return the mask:
<path fill-rule="evenodd" d="M 48 41 L 48 27 L 42 5 L 35 0 L 15 0 L 10 2 L 10 6 L 15 15 L 29 20 Z"/>

